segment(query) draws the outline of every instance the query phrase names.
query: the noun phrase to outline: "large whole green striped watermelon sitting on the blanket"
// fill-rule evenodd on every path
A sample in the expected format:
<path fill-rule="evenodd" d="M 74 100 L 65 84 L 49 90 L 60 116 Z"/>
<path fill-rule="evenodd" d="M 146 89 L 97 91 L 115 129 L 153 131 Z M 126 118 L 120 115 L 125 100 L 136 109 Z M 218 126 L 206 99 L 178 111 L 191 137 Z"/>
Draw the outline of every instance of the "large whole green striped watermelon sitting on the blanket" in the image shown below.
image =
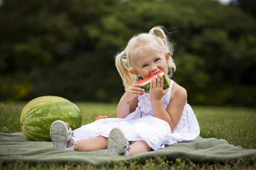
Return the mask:
<path fill-rule="evenodd" d="M 26 108 L 27 111 L 21 113 L 20 125 L 25 140 L 51 142 L 49 131 L 55 120 L 67 122 L 72 130 L 82 125 L 81 112 L 75 104 L 68 100 L 63 101 L 64 98 L 61 99 L 62 101 L 47 101 L 44 99 L 45 97 L 49 98 L 49 96 L 43 96 L 39 100 L 37 98 L 38 102 L 34 101 L 29 109 L 26 108 L 26 105 L 24 109 Z M 58 96 L 53 96 L 53 99 L 49 100 L 56 98 L 59 99 Z M 40 100 L 44 102 L 40 102 Z"/>

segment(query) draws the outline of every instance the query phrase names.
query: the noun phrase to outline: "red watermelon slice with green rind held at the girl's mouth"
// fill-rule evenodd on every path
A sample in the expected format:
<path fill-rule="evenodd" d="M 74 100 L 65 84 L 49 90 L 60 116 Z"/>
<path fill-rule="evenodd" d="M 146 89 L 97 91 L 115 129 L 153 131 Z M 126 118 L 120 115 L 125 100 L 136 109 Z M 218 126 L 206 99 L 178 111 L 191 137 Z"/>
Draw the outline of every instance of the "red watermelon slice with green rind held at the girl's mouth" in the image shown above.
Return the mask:
<path fill-rule="evenodd" d="M 149 93 L 150 81 L 151 81 L 151 79 L 154 78 L 154 75 L 157 76 L 158 74 L 160 76 L 163 76 L 163 90 L 169 88 L 170 86 L 169 86 L 166 76 L 162 70 L 157 71 L 157 73 L 151 75 L 150 77 L 147 77 L 145 79 L 140 79 L 140 81 L 136 82 L 135 84 L 142 84 L 142 86 L 140 86 L 140 87 L 145 89 L 145 93 Z"/>

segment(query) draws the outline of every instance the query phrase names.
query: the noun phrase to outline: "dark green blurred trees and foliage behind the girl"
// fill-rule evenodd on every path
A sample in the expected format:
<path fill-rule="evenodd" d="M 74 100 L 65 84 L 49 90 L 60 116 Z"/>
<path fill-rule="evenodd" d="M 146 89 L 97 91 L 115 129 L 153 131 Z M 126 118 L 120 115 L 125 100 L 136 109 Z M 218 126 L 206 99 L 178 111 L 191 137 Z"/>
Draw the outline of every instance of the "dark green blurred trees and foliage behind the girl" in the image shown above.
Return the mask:
<path fill-rule="evenodd" d="M 0 101 L 117 102 L 114 54 L 160 25 L 190 104 L 256 107 L 255 8 L 253 0 L 2 0 Z"/>

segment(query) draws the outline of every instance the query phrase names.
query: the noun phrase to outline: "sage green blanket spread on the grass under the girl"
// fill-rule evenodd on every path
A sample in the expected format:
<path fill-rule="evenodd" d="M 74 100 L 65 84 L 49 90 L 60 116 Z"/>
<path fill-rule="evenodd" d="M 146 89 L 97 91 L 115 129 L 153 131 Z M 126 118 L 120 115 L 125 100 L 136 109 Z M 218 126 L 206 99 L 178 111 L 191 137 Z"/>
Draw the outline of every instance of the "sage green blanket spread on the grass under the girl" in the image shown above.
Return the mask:
<path fill-rule="evenodd" d="M 224 139 L 204 139 L 200 136 L 192 142 L 182 142 L 167 146 L 164 149 L 139 153 L 133 156 L 108 156 L 105 150 L 93 152 L 76 152 L 70 150 L 56 151 L 52 142 L 29 142 L 23 139 L 22 133 L 0 133 L 0 161 L 3 163 L 23 161 L 28 163 L 84 163 L 93 165 L 112 164 L 120 160 L 140 161 L 166 157 L 169 161 L 177 158 L 189 159 L 193 162 L 226 162 L 238 158 L 256 160 L 256 150 L 246 150 L 239 146 L 228 144 Z"/>

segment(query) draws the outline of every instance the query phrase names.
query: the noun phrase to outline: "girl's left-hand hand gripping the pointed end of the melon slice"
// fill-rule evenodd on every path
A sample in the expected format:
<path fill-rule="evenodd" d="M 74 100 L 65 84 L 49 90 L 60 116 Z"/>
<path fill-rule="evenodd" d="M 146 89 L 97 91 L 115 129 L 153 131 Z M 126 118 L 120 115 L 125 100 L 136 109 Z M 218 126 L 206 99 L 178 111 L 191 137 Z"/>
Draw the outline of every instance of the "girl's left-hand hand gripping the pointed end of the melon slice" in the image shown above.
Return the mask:
<path fill-rule="evenodd" d="M 129 86 L 123 95 L 126 102 L 130 102 L 134 97 L 142 96 L 145 93 L 144 88 L 140 88 L 141 84 L 133 84 Z"/>

